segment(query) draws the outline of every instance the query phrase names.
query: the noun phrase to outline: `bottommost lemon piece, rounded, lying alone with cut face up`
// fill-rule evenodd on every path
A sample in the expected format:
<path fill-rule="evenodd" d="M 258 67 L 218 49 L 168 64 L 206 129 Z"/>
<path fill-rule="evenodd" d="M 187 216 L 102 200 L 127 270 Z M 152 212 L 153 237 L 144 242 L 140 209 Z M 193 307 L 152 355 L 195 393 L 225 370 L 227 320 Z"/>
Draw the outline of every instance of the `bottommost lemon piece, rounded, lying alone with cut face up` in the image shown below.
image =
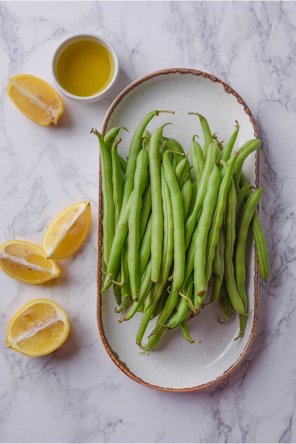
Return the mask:
<path fill-rule="evenodd" d="M 6 346 L 27 356 L 43 356 L 62 345 L 69 331 L 62 307 L 49 299 L 35 299 L 9 322 Z"/>

